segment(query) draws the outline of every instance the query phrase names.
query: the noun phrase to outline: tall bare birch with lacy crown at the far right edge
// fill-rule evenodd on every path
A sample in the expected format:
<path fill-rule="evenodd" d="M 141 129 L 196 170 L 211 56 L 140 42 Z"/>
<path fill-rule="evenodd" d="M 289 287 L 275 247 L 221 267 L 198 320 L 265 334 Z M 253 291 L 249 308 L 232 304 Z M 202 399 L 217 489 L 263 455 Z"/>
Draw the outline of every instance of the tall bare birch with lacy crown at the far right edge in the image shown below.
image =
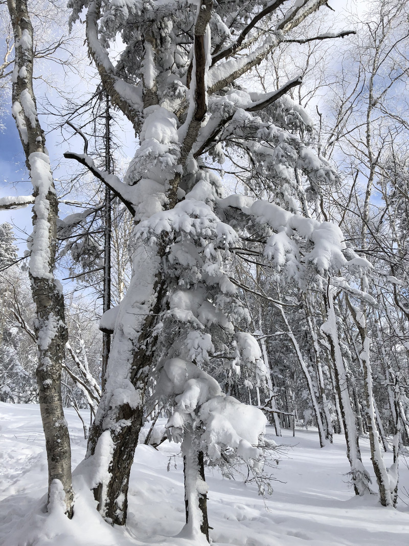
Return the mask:
<path fill-rule="evenodd" d="M 402 157 L 406 150 L 408 126 L 403 112 L 407 97 L 402 90 L 405 89 L 409 75 L 409 34 L 406 27 L 406 4 L 380 0 L 371 2 L 370 8 L 360 23 L 361 32 L 352 40 L 353 62 L 350 65 L 352 71 L 349 72 L 352 78 L 344 69 L 342 85 L 338 88 L 334 86 L 332 91 L 338 95 L 334 97 L 334 102 L 339 108 L 336 110 L 336 121 L 329 132 L 325 149 L 328 155 L 337 153 L 342 143 L 341 153 L 344 161 L 350 163 L 354 176 L 349 194 L 338 198 L 339 202 L 345 203 L 340 222 L 348 222 L 344 228 L 348 236 L 374 265 L 374 269 L 364 275 L 360 283 L 363 292 L 375 298 L 372 305 L 378 305 L 381 311 L 374 312 L 373 306 L 368 305 L 368 299 L 361 299 L 357 306 L 348 298 L 346 302 L 352 323 L 350 328 L 356 329 L 358 333 L 355 342 L 356 360 L 364 379 L 365 417 L 372 465 L 381 503 L 389 506 L 394 502 L 393 491 L 398 465 L 394 463 L 389 476 L 382 458 L 380 434 L 383 427 L 377 412 L 372 381 L 372 358 L 375 357 L 372 347 L 377 343 L 382 351 L 384 341 L 379 341 L 380 324 L 390 323 L 392 314 L 394 324 L 396 319 L 403 319 L 403 323 L 406 323 L 405 326 L 401 323 L 403 327 L 397 329 L 399 334 L 398 331 L 393 334 L 395 343 L 399 346 L 402 331 L 407 329 L 408 317 L 405 305 L 402 305 L 406 295 L 405 290 L 399 288 L 407 282 L 407 264 L 405 254 L 402 254 L 396 239 L 396 216 L 393 207 L 389 206 L 389 192 L 386 187 L 392 174 L 390 167 L 393 164 L 396 166 L 393 159 L 396 158 L 396 147 L 401 147 Z M 348 62 L 345 58 L 345 63 Z M 399 161 L 398 159 L 398 164 Z M 393 170 L 392 167 L 392 172 Z M 404 181 L 405 176 L 399 176 L 399 179 Z M 359 187 L 360 184 L 362 187 Z M 381 206 L 374 199 L 376 187 L 382 189 L 384 203 Z M 395 274 L 400 278 L 396 278 Z M 375 322 L 378 324 L 375 330 L 371 329 L 372 313 L 377 315 Z M 385 354 L 378 360 L 377 365 L 382 367 L 381 373 L 388 391 L 390 420 L 395 423 L 393 373 L 390 373 L 389 359 Z M 395 426 L 392 428 L 395 429 Z"/>

